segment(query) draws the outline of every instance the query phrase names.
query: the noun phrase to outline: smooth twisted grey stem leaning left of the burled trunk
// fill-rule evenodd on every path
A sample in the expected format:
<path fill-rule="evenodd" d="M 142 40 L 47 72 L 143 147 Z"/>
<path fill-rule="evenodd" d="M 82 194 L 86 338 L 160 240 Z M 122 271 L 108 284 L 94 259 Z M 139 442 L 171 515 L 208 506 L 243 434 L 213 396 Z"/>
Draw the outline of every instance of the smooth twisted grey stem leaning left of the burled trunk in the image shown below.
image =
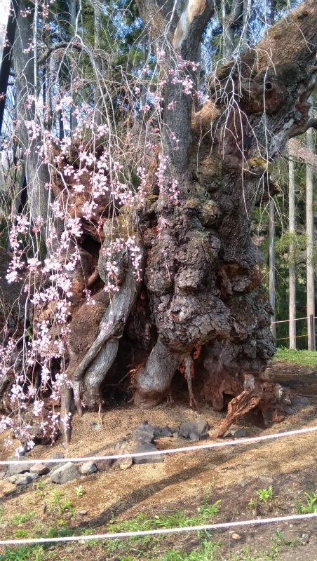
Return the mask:
<path fill-rule="evenodd" d="M 105 229 L 107 233 L 107 227 Z M 112 236 L 114 236 L 114 227 L 112 224 Z M 122 236 L 122 231 L 121 231 Z M 142 241 L 138 238 L 141 255 L 142 252 Z M 109 238 L 106 235 L 104 240 L 104 248 L 109 248 Z M 133 267 L 133 262 L 128 254 L 126 247 L 119 252 L 119 255 L 115 256 L 114 260 L 117 263 L 118 277 L 117 281 L 120 288 L 117 292 L 111 291 L 111 298 L 104 298 L 100 296 L 98 302 L 100 304 L 100 309 L 102 306 L 106 306 L 106 309 L 102 315 L 101 320 L 99 319 L 97 332 L 93 333 L 91 338 L 90 346 L 86 348 L 85 353 L 82 353 L 79 361 L 79 355 L 74 349 L 73 339 L 74 331 L 78 330 L 79 325 L 81 325 L 85 314 L 79 311 L 75 316 L 72 323 L 74 323 L 74 330 L 72 330 L 69 337 L 69 343 L 73 347 L 70 353 L 71 361 L 67 369 L 67 376 L 72 380 L 73 390 L 74 390 L 74 402 L 76 405 L 77 412 L 79 415 L 83 414 L 83 405 L 87 407 L 88 410 L 95 409 L 97 406 L 101 405 L 101 393 L 100 386 L 104 377 L 107 375 L 110 367 L 114 363 L 116 358 L 116 353 L 118 351 L 119 339 L 122 337 L 124 327 L 130 315 L 130 311 L 135 304 L 138 292 L 141 286 L 142 279 L 142 267 L 143 259 L 140 262 L 140 277 L 135 278 L 135 269 Z M 109 283 L 107 262 L 104 260 L 104 253 L 100 252 L 98 274 L 104 282 Z M 91 278 L 91 277 L 90 277 Z M 86 306 L 88 306 L 86 304 Z M 88 309 L 86 310 L 88 312 Z M 99 314 L 93 316 L 93 327 L 96 330 L 97 325 L 95 325 L 95 319 Z M 83 327 L 83 326 L 82 326 Z M 82 334 L 77 333 L 78 337 Z M 87 324 L 85 325 L 87 330 Z M 78 345 L 78 342 L 77 342 Z M 70 401 L 69 393 L 64 388 L 63 389 L 63 417 L 69 417 L 70 411 Z M 69 429 L 65 428 L 63 431 L 63 438 L 65 444 L 69 441 Z"/>

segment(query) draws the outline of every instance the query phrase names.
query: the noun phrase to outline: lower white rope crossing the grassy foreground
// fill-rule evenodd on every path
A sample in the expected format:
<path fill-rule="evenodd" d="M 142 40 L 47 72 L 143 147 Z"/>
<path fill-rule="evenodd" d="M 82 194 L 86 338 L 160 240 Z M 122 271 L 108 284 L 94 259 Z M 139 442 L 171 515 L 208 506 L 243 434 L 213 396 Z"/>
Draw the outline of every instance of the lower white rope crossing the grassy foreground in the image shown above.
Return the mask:
<path fill-rule="evenodd" d="M 290 520 L 301 520 L 316 518 L 317 513 L 295 514 L 291 516 L 277 516 L 276 518 L 262 518 L 262 520 L 241 520 L 241 522 L 222 522 L 220 524 L 207 524 L 203 526 L 186 526 L 182 528 L 163 528 L 158 530 L 141 530 L 140 532 L 118 532 L 116 534 L 91 534 L 90 536 L 64 536 L 61 538 L 32 538 L 32 539 L 6 539 L 0 540 L 0 546 L 22 545 L 27 543 L 56 543 L 61 541 L 86 541 L 88 539 L 115 539 L 132 538 L 134 536 L 156 536 L 160 534 L 175 534 L 176 532 L 198 532 L 201 530 L 212 530 L 222 528 L 235 528 L 250 526 L 252 524 L 271 524 L 271 522 L 288 522 Z"/>

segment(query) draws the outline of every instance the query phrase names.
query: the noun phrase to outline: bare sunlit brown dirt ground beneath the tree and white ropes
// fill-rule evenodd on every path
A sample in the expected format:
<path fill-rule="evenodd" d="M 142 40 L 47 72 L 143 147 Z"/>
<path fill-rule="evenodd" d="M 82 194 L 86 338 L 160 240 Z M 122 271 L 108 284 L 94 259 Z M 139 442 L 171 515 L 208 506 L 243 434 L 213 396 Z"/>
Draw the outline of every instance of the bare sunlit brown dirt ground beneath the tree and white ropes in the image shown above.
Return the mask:
<path fill-rule="evenodd" d="M 286 365 L 279 361 L 276 361 L 271 367 L 271 372 L 276 381 L 292 388 L 294 395 L 295 393 L 310 395 L 311 405 L 302 409 L 294 406 L 296 414 L 286 416 L 281 424 L 275 424 L 266 431 L 252 426 L 245 419 L 242 419 L 238 426 L 244 427 L 248 436 L 277 433 L 281 429 L 290 430 L 314 426 L 317 399 L 313 399 L 313 396 L 317 398 L 317 372 L 313 372 L 307 367 Z M 214 412 L 209 405 L 201 407 L 201 415 L 208 420 L 211 427 L 210 433 L 213 433 L 224 418 L 224 414 Z M 193 417 L 196 417 L 196 414 L 190 412 L 187 403 L 177 403 L 173 407 L 162 404 L 146 414 L 133 407 L 117 408 L 103 414 L 102 427 L 98 425 L 97 414 L 85 414 L 82 419 L 75 416 L 72 444 L 65 453 L 65 457 L 94 454 L 97 451 L 100 454 L 113 451 L 114 444 L 122 438 L 129 437 L 132 428 L 140 424 L 144 418 L 152 425 L 165 426 L 168 424 L 176 427 Z M 160 450 L 181 447 L 184 446 L 184 442 L 187 441 L 178 438 L 156 440 Z M 192 442 L 189 441 L 188 444 L 191 445 Z M 316 445 L 317 433 L 308 433 L 281 440 L 261 442 L 256 445 L 239 445 L 168 455 L 163 464 L 143 464 L 133 466 L 128 471 L 121 471 L 119 466 L 114 464 L 111 471 L 93 474 L 86 478 L 82 476 L 81 480 L 62 486 L 65 496 L 72 500 L 73 506 L 87 511 L 87 515 L 84 517 L 75 513 L 74 520 L 69 520 L 67 517 L 65 519 L 72 529 L 82 529 L 84 526 L 101 533 L 107 531 L 107 523 L 114 515 L 119 516 L 121 520 L 126 520 L 134 518 L 140 512 L 153 517 L 161 511 L 173 511 L 180 508 L 184 513 L 190 515 L 201 504 L 203 489 L 206 488 L 212 488 L 210 501 L 221 499 L 217 518 L 220 522 L 246 520 L 257 516 L 262 518 L 263 516 L 294 514 L 297 512 L 296 500 L 302 498 L 304 492 L 313 492 L 317 489 Z M 11 450 L 8 450 L 6 456 L 12 453 L 14 447 L 13 445 Z M 60 443 L 53 447 L 37 446 L 28 455 L 34 458 L 50 457 L 56 452 L 62 452 Z M 245 481 L 245 487 L 239 486 L 242 481 Z M 84 495 L 81 497 L 76 496 L 75 487 L 78 485 L 83 486 Z M 255 498 L 255 490 L 267 488 L 269 485 L 272 485 L 274 494 L 279 498 L 260 505 L 260 509 L 257 505 L 253 512 L 250 511 L 248 503 Z M 43 505 L 46 503 L 48 506 L 49 503 L 50 492 L 48 490 L 44 492 L 42 498 L 39 498 L 35 487 L 19 490 L 5 481 L 1 481 L 0 486 L 0 505 L 3 507 L 4 518 L 2 523 L 4 527 L 1 532 L 4 535 L 16 535 L 14 532 L 17 527 L 10 522 L 15 513 L 26 511 L 36 513 L 32 521 L 22 525 L 26 530 L 34 528 L 34 520 L 42 531 L 47 529 L 48 525 L 56 524 L 56 515 L 51 515 L 48 509 L 43 514 Z M 296 547 L 293 547 L 296 545 L 294 543 L 292 546 L 279 543 L 278 555 L 280 557 L 271 557 L 271 559 L 317 560 L 317 525 L 315 521 L 280 524 L 279 528 L 283 530 L 283 538 L 288 541 L 301 538 L 302 534 L 309 534 L 309 543 L 302 545 L 303 541 L 300 540 Z M 270 549 L 271 536 L 275 531 L 276 528 L 273 526 L 241 528 L 241 531 L 236 530 L 241 535 L 241 540 L 238 542 L 229 539 L 231 534 L 226 531 L 221 534 L 219 558 L 229 559 L 229 546 L 231 554 L 236 550 L 242 552 L 245 546 L 250 546 L 251 549 Z M 158 550 L 161 548 L 160 551 L 163 551 L 172 547 L 173 544 L 178 544 L 185 551 L 189 551 L 195 547 L 195 540 L 197 540 L 196 534 L 185 534 L 184 536 L 177 534 L 173 538 L 168 537 L 160 541 Z M 91 552 L 84 548 L 85 557 L 82 557 L 84 546 L 75 546 L 72 555 L 65 553 L 66 547 L 67 545 L 61 546 L 55 550 L 54 558 L 56 560 L 119 559 L 116 555 L 109 555 L 109 552 L 104 556 L 103 551 L 101 555 L 99 546 L 95 546 L 97 549 L 93 548 Z M 249 557 L 239 557 L 239 555 L 245 554 L 238 553 L 234 559 L 249 559 Z M 145 556 L 144 558 L 150 557 Z M 254 559 L 261 558 L 254 557 Z M 252 557 L 250 557 L 251 559 Z"/>

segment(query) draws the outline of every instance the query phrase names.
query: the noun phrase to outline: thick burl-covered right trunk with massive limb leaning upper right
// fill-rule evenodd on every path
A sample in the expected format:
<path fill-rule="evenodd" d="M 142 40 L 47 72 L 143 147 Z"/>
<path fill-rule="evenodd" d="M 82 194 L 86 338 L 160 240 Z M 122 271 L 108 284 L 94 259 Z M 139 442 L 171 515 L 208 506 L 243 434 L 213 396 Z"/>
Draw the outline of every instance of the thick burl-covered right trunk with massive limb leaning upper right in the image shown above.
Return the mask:
<path fill-rule="evenodd" d="M 147 3 L 137 4 L 152 40 L 159 42 L 168 14 L 163 20 L 158 11 L 155 20 Z M 170 34 L 184 60 L 196 60 L 212 13 L 213 3 L 187 2 Z M 274 354 L 271 309 L 258 288 L 262 255 L 250 240 L 250 218 L 264 189 L 271 187 L 271 162 L 288 138 L 306 128 L 307 98 L 315 83 L 316 21 L 316 2 L 304 2 L 256 47 L 220 67 L 210 83 L 212 99 L 192 122 L 190 97 L 168 79 L 164 107 L 172 100 L 176 104 L 164 109 L 162 154 L 168 156 L 166 184 L 177 180 L 180 203 L 160 192 L 154 212 L 157 219 L 163 217 L 161 239 L 144 229 L 145 284 L 158 343 L 137 372 L 139 407 L 166 396 L 175 364 L 194 345 L 207 345 L 207 359 L 222 367 L 223 351 L 226 370 L 236 373 L 262 371 Z M 173 61 L 167 65 L 173 67 Z M 180 140 L 178 151 L 171 130 Z M 213 355 L 215 342 L 222 351 Z"/>

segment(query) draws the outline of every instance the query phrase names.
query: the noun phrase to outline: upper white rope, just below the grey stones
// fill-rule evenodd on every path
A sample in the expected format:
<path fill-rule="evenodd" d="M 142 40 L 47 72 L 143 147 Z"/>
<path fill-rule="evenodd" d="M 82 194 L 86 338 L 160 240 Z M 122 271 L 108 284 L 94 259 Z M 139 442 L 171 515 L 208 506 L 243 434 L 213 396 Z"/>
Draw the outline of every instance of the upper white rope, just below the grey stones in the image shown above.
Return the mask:
<path fill-rule="evenodd" d="M 296 431 L 288 431 L 285 433 L 267 434 L 262 436 L 253 436 L 252 438 L 237 438 L 236 440 L 229 440 L 228 442 L 210 442 L 208 444 L 202 444 L 198 446 L 184 446 L 181 448 L 170 448 L 169 450 L 155 450 L 154 452 L 137 452 L 134 454 L 114 454 L 108 456 L 86 456 L 82 458 L 60 458 L 60 459 L 31 459 L 26 458 L 24 460 L 19 460 L 19 465 L 23 463 L 27 464 L 60 464 L 68 461 L 79 462 L 79 461 L 100 461 L 100 460 L 115 460 L 121 458 L 137 458 L 144 456 L 154 456 L 156 454 L 177 454 L 177 452 L 190 452 L 191 450 L 206 450 L 208 448 L 221 448 L 224 446 L 236 446 L 238 444 L 249 444 L 250 442 L 261 442 L 262 440 L 271 440 L 274 438 L 283 438 L 285 436 L 292 436 L 297 434 L 313 433 L 317 431 L 317 426 L 311 426 L 307 428 L 299 428 Z M 16 464 L 17 460 L 1 460 L 0 465 L 9 466 L 11 464 Z"/>

